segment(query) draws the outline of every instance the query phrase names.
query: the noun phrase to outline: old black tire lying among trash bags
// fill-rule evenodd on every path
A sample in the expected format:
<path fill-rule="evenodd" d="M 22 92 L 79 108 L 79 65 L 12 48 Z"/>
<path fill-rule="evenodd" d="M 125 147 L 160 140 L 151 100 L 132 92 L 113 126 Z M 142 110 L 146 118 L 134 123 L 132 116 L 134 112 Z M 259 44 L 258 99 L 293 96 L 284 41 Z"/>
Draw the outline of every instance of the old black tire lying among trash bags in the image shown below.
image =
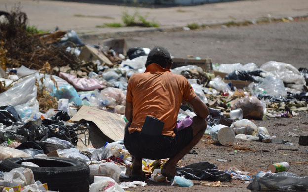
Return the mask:
<path fill-rule="evenodd" d="M 21 165 L 33 162 L 39 167 Z M 88 192 L 89 166 L 76 159 L 60 157 L 9 158 L 0 163 L 0 170 L 8 172 L 17 167 L 30 168 L 34 179 L 47 183 L 49 190 L 60 192 Z"/>

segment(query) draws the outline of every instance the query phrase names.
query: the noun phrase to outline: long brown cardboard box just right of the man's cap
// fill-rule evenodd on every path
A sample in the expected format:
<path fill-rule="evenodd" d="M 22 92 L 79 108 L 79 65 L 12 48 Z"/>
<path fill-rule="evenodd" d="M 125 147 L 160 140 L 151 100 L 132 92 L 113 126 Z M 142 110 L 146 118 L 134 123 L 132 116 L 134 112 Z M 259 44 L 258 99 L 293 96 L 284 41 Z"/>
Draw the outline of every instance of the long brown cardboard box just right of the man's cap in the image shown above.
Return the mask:
<path fill-rule="evenodd" d="M 203 71 L 211 71 L 212 68 L 212 59 L 191 59 L 191 58 L 173 58 L 172 68 L 176 68 L 179 66 L 187 66 L 187 65 L 197 65 L 203 69 Z"/>

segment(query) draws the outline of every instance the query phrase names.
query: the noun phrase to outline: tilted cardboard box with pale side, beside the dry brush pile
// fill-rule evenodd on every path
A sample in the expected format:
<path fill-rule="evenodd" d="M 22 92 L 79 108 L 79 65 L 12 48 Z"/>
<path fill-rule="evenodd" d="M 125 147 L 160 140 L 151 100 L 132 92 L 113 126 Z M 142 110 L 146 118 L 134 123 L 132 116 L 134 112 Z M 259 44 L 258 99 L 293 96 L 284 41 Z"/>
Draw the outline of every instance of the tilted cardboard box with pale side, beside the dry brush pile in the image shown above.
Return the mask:
<path fill-rule="evenodd" d="M 104 55 L 103 52 L 89 45 L 84 46 L 81 50 L 79 58 L 84 61 L 99 60 L 102 64 L 113 66 L 113 63 Z"/>

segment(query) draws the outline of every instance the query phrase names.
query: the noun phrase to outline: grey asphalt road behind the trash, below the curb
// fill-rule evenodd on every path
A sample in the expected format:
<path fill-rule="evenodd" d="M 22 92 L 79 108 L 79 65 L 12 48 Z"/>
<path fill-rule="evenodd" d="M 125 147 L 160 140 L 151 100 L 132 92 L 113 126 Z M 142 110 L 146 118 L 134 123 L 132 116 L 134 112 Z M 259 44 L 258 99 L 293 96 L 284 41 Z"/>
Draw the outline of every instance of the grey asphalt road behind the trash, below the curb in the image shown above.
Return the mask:
<path fill-rule="evenodd" d="M 168 48 L 175 57 L 212 58 L 216 64 L 262 65 L 279 61 L 308 67 L 308 20 L 179 32 L 140 33 L 125 37 L 128 47 Z M 121 37 L 121 36 L 118 36 Z M 101 40 L 86 39 L 98 44 Z"/>

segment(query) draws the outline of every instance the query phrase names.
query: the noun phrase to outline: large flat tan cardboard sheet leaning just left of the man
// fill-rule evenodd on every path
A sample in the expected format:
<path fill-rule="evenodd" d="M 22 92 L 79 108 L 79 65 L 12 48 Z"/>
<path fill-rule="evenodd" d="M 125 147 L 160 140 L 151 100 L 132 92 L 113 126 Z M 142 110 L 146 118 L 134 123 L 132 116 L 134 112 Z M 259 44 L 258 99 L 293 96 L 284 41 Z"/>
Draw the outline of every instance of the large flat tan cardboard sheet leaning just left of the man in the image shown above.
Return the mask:
<path fill-rule="evenodd" d="M 83 105 L 70 121 L 77 122 L 82 119 L 93 122 L 104 135 L 113 141 L 124 138 L 126 123 L 119 114 Z"/>

